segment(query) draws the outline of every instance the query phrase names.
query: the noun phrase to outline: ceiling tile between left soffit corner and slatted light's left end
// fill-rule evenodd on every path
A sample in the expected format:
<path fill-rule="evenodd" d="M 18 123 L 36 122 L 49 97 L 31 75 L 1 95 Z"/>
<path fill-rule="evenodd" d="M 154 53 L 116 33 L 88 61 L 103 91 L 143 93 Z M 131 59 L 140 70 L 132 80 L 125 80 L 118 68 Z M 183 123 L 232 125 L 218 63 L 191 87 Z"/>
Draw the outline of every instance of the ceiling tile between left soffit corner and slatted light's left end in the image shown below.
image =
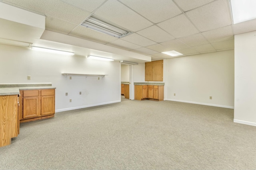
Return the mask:
<path fill-rule="evenodd" d="M 45 19 L 45 27 L 46 29 L 56 30 L 55 32 L 59 33 L 69 33 L 72 31 L 77 25 L 74 23 L 70 23 L 68 21 L 60 20 L 58 18 L 54 18 L 52 16 L 47 16 Z"/>

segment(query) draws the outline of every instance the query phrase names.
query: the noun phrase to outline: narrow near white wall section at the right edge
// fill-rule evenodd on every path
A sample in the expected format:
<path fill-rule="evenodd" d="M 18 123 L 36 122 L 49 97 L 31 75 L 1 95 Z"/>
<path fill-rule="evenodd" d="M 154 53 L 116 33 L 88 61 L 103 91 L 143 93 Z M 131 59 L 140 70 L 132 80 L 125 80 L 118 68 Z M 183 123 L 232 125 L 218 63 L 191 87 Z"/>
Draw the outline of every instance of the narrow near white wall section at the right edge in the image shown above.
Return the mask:
<path fill-rule="evenodd" d="M 256 31 L 235 35 L 234 122 L 256 126 Z"/>

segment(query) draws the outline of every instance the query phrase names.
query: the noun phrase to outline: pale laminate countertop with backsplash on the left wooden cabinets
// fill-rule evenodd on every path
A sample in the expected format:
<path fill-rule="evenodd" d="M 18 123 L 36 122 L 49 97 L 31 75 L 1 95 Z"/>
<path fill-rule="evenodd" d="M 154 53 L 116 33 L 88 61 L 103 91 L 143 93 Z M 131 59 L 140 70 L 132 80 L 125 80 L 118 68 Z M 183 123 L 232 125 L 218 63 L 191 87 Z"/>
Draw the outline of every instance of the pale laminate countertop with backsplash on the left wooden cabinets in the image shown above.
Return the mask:
<path fill-rule="evenodd" d="M 0 96 L 18 95 L 20 90 L 56 89 L 51 83 L 0 84 Z"/>

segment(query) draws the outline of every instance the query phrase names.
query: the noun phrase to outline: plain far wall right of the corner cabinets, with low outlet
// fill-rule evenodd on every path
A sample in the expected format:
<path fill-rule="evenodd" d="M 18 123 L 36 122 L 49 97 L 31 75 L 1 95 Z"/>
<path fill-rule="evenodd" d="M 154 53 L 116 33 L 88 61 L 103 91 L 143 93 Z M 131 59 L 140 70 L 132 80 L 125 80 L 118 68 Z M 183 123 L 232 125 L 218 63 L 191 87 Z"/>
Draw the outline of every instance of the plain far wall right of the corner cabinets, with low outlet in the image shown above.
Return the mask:
<path fill-rule="evenodd" d="M 165 100 L 234 108 L 233 50 L 166 59 L 164 67 Z"/>

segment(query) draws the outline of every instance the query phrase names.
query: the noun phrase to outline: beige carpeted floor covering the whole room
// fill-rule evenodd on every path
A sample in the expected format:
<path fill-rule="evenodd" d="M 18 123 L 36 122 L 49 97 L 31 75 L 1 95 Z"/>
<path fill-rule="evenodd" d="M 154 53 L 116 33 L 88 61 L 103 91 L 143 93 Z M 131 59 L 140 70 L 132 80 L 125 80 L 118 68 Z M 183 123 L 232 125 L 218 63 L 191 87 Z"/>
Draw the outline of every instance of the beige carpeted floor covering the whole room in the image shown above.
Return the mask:
<path fill-rule="evenodd" d="M 1 170 L 252 170 L 256 127 L 233 109 L 137 101 L 56 113 L 22 123 L 0 148 Z"/>

